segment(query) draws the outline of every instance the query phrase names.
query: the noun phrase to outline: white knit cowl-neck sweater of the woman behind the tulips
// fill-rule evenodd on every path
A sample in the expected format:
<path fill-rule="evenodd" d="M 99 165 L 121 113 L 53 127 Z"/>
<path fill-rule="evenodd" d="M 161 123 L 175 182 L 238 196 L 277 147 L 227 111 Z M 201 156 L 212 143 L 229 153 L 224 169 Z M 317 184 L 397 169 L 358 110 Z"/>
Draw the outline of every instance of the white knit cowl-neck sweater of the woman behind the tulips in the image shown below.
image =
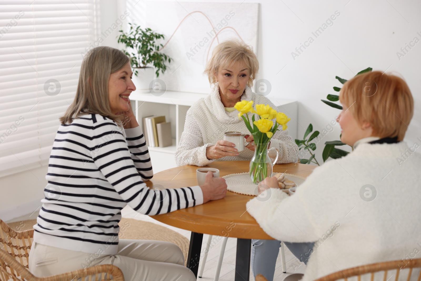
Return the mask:
<path fill-rule="evenodd" d="M 275 110 L 277 109 L 269 99 L 253 93 L 248 86 L 245 88 L 241 100 L 252 100 L 254 101 L 253 105 L 269 104 Z M 252 115 L 249 113 L 250 120 Z M 276 121 L 274 120 L 274 122 Z M 206 158 L 206 148 L 215 145 L 218 140 L 224 139 L 224 132 L 227 131 L 250 134 L 244 121 L 238 119 L 237 110 L 225 111 L 219 95 L 219 86 L 216 84 L 209 96 L 198 100 L 187 111 L 184 131 L 176 151 L 177 165 L 205 166 L 213 161 L 250 161 L 254 152 L 248 148 L 240 152 L 239 156 L 225 156 L 217 160 Z M 271 139 L 270 147 L 276 147 L 279 150 L 280 155 L 277 163 L 297 162 L 298 147 L 288 135 L 288 130 L 277 131 Z"/>

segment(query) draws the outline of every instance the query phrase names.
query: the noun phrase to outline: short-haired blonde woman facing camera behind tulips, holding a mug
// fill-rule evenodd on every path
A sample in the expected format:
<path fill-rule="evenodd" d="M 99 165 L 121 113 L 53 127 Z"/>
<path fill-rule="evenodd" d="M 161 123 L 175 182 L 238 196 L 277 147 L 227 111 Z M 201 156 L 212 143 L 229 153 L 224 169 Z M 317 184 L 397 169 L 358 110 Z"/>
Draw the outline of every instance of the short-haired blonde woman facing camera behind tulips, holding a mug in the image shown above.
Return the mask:
<path fill-rule="evenodd" d="M 250 88 L 258 68 L 259 63 L 252 48 L 243 42 L 228 40 L 213 49 L 204 72 L 213 86 L 212 91 L 187 111 L 175 156 L 177 165 L 205 166 L 213 161 L 251 160 L 254 154 L 252 143 L 247 145 L 247 149 L 238 152 L 232 142 L 223 140 L 223 136 L 226 131 L 248 132 L 244 121 L 238 117 L 239 112 L 234 108 L 237 102 L 253 101 L 254 104 L 268 104 L 277 108 L 269 99 L 253 93 Z M 248 114 L 251 120 L 252 113 Z M 246 135 L 246 141 L 253 141 L 253 136 Z M 288 135 L 288 130 L 277 131 L 270 147 L 279 150 L 277 163 L 297 162 L 298 147 Z M 253 273 L 264 273 L 272 280 L 280 241 L 253 239 L 252 245 Z M 291 244 L 287 246 L 291 249 L 293 247 Z"/>

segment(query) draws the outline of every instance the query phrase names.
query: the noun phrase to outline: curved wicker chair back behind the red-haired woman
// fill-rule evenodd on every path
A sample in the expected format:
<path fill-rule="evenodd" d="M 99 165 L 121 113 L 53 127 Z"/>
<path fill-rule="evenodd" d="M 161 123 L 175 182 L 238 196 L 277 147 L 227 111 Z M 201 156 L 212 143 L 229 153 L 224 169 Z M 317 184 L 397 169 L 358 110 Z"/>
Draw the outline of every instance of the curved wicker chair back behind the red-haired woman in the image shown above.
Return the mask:
<path fill-rule="evenodd" d="M 360 265 L 354 268 L 348 268 L 344 270 L 339 270 L 337 272 L 331 273 L 329 275 L 323 276 L 322 278 L 316 279 L 315 281 L 336 281 L 339 279 L 344 279 L 347 281 L 350 277 L 357 276 L 358 281 L 361 280 L 361 276 L 364 274 L 370 273 L 370 280 L 374 280 L 374 274 L 384 271 L 383 280 L 387 280 L 387 272 L 388 271 L 395 271 L 396 276 L 392 281 L 397 281 L 399 279 L 399 273 L 401 271 L 400 265 L 404 264 L 404 269 L 408 269 L 408 276 L 406 276 L 406 280 L 421 280 L 421 270 L 418 276 L 414 279 L 411 279 L 412 277 L 412 271 L 414 268 L 420 268 L 421 269 L 421 259 L 413 259 L 410 261 L 402 262 L 402 260 L 394 260 L 391 262 L 378 262 L 378 263 L 372 263 L 370 265 Z M 390 278 L 390 277 L 389 277 Z M 267 281 L 266 278 L 264 278 L 263 275 L 258 274 L 256 276 L 256 281 Z"/>

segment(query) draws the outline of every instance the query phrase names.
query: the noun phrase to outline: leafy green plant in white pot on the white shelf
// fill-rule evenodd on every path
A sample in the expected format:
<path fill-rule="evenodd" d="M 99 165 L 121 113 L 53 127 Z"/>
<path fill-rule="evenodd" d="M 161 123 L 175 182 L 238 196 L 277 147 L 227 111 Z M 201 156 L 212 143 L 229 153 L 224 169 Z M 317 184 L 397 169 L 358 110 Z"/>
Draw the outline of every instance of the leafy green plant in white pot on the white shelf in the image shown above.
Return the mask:
<path fill-rule="evenodd" d="M 167 69 L 165 62 L 171 63 L 171 58 L 159 52 L 163 45 L 156 40 L 164 39 L 164 35 L 155 33 L 150 28 L 142 29 L 135 24 L 129 24 L 129 32 L 120 30 L 117 42 L 125 44 L 126 49 L 122 51 L 130 57 L 136 88 L 149 93 L 149 85 L 155 79 L 155 74 L 158 77 L 160 71 L 164 73 Z"/>

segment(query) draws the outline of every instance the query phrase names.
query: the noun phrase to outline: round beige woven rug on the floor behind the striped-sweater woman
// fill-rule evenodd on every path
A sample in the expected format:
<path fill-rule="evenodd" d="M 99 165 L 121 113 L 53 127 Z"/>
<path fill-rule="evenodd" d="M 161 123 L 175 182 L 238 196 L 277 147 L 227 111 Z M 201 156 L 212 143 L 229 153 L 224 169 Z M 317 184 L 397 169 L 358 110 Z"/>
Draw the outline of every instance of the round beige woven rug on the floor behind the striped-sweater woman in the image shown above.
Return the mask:
<path fill-rule="evenodd" d="M 8 225 L 16 231 L 23 231 L 32 229 L 36 223 L 36 219 L 29 219 L 10 222 Z M 121 218 L 118 225 L 120 226 L 120 239 L 167 241 L 176 244 L 184 254 L 184 265 L 187 265 L 190 241 L 180 233 L 165 226 L 138 219 Z"/>

